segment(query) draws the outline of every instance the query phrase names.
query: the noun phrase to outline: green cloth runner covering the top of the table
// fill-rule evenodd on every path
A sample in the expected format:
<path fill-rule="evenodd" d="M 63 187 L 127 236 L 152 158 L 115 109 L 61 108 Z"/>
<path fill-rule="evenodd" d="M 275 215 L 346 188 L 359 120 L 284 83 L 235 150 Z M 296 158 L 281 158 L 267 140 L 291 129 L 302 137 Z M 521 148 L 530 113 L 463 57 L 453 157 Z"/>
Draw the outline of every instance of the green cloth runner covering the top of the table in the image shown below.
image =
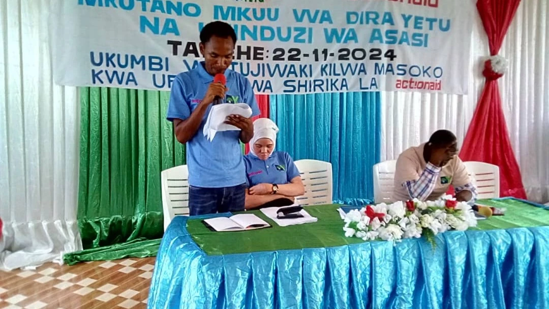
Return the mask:
<path fill-rule="evenodd" d="M 496 207 L 505 207 L 505 216 L 493 216 L 478 221 L 476 229 L 505 229 L 516 227 L 535 227 L 549 225 L 549 211 L 522 201 L 482 200 L 479 203 Z M 337 209 L 340 205 L 307 206 L 311 216 L 317 217 L 315 223 L 279 227 L 261 211 L 249 211 L 271 224 L 272 228 L 243 232 L 212 232 L 201 220 L 189 220 L 187 231 L 195 243 L 208 255 L 239 254 L 254 251 L 278 251 L 305 248 L 327 248 L 346 244 L 363 243 L 359 238 L 346 238 L 343 221 Z"/>

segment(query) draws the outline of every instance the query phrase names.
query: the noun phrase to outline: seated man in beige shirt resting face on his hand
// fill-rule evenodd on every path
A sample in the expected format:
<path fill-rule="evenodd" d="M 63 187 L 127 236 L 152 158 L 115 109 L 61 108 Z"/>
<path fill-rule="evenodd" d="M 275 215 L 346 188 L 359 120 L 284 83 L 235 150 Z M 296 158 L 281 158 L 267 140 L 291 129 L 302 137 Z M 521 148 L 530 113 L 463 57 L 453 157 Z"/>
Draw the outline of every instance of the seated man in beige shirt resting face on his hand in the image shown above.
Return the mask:
<path fill-rule="evenodd" d="M 456 200 L 475 199 L 477 189 L 457 156 L 457 139 L 450 131 L 436 131 L 428 143 L 408 148 L 396 160 L 395 201 L 436 200 L 446 194 L 450 184 Z"/>

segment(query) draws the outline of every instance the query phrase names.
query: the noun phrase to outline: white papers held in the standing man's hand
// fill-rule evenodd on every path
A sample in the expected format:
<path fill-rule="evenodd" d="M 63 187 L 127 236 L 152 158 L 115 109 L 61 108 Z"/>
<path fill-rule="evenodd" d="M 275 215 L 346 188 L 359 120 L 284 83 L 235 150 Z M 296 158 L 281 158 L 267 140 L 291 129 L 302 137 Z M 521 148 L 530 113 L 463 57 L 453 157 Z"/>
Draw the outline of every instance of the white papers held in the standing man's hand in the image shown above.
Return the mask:
<path fill-rule="evenodd" d="M 225 123 L 228 115 L 240 115 L 249 118 L 251 117 L 250 105 L 246 103 L 223 103 L 211 106 L 210 114 L 208 114 L 208 119 L 206 119 L 202 131 L 210 142 L 214 139 L 217 132 L 240 130 L 235 126 L 227 125 Z"/>

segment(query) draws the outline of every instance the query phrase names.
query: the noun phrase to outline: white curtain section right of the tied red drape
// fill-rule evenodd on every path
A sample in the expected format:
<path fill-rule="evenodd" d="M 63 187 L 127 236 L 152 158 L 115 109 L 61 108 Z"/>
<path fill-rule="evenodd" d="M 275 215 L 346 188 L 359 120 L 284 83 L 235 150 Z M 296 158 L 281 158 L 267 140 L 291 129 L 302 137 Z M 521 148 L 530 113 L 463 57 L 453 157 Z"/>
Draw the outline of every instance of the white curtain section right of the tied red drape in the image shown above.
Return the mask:
<path fill-rule="evenodd" d="M 549 1 L 522 0 L 500 54 L 503 112 L 528 199 L 549 201 Z"/>

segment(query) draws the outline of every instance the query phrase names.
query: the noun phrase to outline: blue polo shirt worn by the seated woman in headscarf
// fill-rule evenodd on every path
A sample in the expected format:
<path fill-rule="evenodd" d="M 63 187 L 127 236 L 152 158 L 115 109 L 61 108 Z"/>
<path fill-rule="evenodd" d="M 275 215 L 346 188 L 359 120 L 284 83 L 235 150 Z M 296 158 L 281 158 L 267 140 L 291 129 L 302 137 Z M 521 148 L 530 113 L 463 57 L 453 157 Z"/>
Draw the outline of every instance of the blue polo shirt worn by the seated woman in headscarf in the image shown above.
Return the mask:
<path fill-rule="evenodd" d="M 284 151 L 274 151 L 267 160 L 249 153 L 244 156 L 244 164 L 248 188 L 260 183 L 286 184 L 299 176 L 294 160 Z"/>

